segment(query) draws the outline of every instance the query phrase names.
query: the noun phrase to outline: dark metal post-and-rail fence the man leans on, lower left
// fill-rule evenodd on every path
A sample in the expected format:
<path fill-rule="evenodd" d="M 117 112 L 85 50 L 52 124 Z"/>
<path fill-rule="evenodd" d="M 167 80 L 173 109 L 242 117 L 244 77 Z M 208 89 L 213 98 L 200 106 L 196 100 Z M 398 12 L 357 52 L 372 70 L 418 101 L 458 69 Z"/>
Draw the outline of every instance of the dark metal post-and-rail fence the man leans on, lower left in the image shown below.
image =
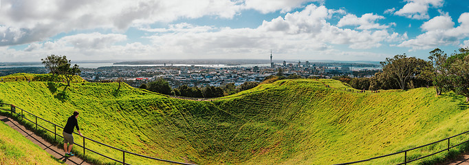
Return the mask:
<path fill-rule="evenodd" d="M 30 113 L 29 111 L 25 111 L 25 110 L 23 110 L 23 109 L 21 109 L 21 108 L 19 108 L 19 107 L 16 107 L 16 106 L 14 106 L 13 104 L 0 103 L 0 105 L 8 105 L 8 106 L 10 106 L 10 109 L 6 109 L 6 110 L 10 110 L 11 115 L 17 114 L 17 115 L 19 115 L 19 117 L 21 117 L 21 120 L 27 120 L 27 121 L 29 121 L 29 122 L 32 122 L 32 124 L 34 124 L 34 126 L 35 126 L 36 131 L 38 130 L 38 126 L 39 126 L 40 128 L 44 129 L 45 131 L 48 131 L 48 132 L 50 132 L 50 133 L 54 133 L 54 141 L 57 140 L 57 136 L 63 138 L 62 135 L 57 134 L 57 128 L 63 129 L 62 126 L 59 126 L 58 124 L 55 124 L 55 123 L 50 122 L 50 121 L 48 121 L 48 120 L 45 120 L 45 119 L 43 119 L 43 118 L 41 118 L 41 117 L 39 117 L 39 116 L 37 116 L 37 115 L 34 115 L 33 113 Z M 17 112 L 17 109 L 21 110 L 21 113 L 20 113 L 19 111 Z M 32 118 L 27 118 L 27 115 L 32 116 Z M 41 123 L 38 124 L 38 119 L 39 119 L 39 122 L 42 121 L 43 123 L 48 124 L 48 126 L 45 125 L 45 124 L 42 124 L 42 125 L 41 125 Z M 54 130 L 52 130 L 52 126 L 54 127 Z M 78 135 L 78 133 L 74 133 L 74 134 Z M 104 143 L 99 142 L 99 141 L 97 141 L 97 140 L 93 140 L 93 139 L 91 139 L 91 138 L 89 138 L 89 137 L 85 137 L 85 136 L 81 136 L 81 137 L 83 137 L 83 138 L 82 138 L 82 139 L 83 139 L 83 143 L 77 144 L 77 143 L 75 142 L 74 144 L 75 144 L 76 146 L 80 146 L 81 148 L 83 148 L 83 155 L 85 155 L 85 152 L 86 152 L 86 151 L 89 151 L 89 152 L 91 152 L 91 153 L 95 153 L 95 154 L 100 155 L 100 156 L 102 156 L 102 157 L 105 157 L 105 158 L 107 158 L 107 159 L 111 159 L 111 160 L 113 160 L 113 162 L 117 162 L 117 163 L 119 163 L 119 164 L 124 164 L 124 165 L 129 164 L 129 163 L 126 163 L 126 157 L 129 157 L 129 156 L 136 156 L 136 157 L 142 157 L 142 158 L 145 158 L 145 159 L 153 159 L 153 160 L 156 160 L 156 161 L 166 162 L 166 163 L 171 163 L 171 164 L 194 165 L 194 164 L 188 164 L 188 163 L 183 163 L 183 162 L 175 162 L 175 161 L 171 161 L 171 160 L 167 160 L 167 159 L 159 159 L 159 158 L 155 158 L 155 157 L 150 157 L 150 156 L 146 156 L 146 155 L 141 155 L 141 154 L 138 154 L 138 153 L 133 153 L 133 152 L 130 152 L 130 151 L 125 151 L 125 150 L 120 149 L 120 148 L 116 148 L 115 146 L 111 146 L 111 145 L 108 145 L 108 144 L 104 144 Z M 98 144 L 98 145 L 100 145 L 100 146 L 106 146 L 107 148 L 111 148 L 111 149 L 113 149 L 113 150 L 115 150 L 115 151 L 122 152 L 122 160 L 113 158 L 113 157 L 111 157 L 111 156 L 109 156 L 109 155 L 105 155 L 105 154 L 103 154 L 103 153 L 98 153 L 97 151 L 94 151 L 94 150 L 92 150 L 91 148 L 87 148 L 87 147 L 85 146 L 85 141 L 86 141 L 86 142 L 94 142 L 94 143 L 96 143 L 96 144 Z"/>

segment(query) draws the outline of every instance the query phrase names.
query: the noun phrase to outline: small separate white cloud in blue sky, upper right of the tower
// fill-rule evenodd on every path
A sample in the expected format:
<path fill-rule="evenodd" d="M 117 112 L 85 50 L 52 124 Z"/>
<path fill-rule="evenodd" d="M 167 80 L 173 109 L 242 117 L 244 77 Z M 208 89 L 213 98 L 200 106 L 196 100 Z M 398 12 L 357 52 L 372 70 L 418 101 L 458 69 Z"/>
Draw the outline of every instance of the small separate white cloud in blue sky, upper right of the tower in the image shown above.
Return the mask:
<path fill-rule="evenodd" d="M 358 18 L 355 14 L 347 14 L 342 17 L 337 23 L 338 27 L 344 27 L 346 25 L 358 25 L 359 30 L 370 30 L 370 29 L 386 29 L 389 28 L 389 25 L 380 25 L 375 23 L 378 19 L 384 19 L 380 15 L 375 15 L 373 13 L 363 14 L 362 17 Z"/>

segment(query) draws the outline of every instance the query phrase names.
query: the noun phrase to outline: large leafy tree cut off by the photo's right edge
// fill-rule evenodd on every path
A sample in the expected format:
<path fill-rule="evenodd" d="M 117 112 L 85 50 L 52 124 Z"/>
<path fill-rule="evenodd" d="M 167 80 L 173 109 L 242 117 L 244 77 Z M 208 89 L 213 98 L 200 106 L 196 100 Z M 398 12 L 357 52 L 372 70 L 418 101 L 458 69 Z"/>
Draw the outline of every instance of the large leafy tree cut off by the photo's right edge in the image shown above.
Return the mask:
<path fill-rule="evenodd" d="M 459 49 L 459 53 L 448 58 L 441 58 L 444 63 L 433 83 L 441 91 L 454 91 L 466 96 L 466 102 L 469 102 L 469 47 Z"/>

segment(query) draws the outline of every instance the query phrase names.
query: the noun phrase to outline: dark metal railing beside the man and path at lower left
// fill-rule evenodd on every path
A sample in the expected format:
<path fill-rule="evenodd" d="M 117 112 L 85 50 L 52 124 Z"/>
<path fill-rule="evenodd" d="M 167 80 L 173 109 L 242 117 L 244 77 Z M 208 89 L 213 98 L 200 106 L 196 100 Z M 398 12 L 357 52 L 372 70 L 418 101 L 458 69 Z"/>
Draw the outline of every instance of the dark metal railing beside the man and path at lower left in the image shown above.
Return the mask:
<path fill-rule="evenodd" d="M 19 108 L 19 107 L 16 107 L 16 106 L 14 106 L 13 104 L 0 103 L 0 105 L 8 105 L 8 106 L 10 106 L 10 112 L 11 112 L 12 115 L 13 115 L 13 114 L 20 115 L 20 116 L 21 116 L 21 119 L 25 119 L 25 120 L 28 120 L 29 122 L 32 122 L 32 123 L 36 126 L 36 130 L 37 130 L 38 126 L 39 126 L 39 127 L 41 127 L 42 129 L 44 129 L 44 130 L 46 130 L 46 131 L 48 131 L 48 132 L 50 132 L 50 133 L 54 133 L 54 140 L 57 139 L 57 135 L 58 135 L 59 137 L 63 137 L 62 135 L 59 135 L 59 134 L 56 133 L 56 131 L 57 131 L 56 128 L 58 127 L 58 128 L 63 129 L 62 126 L 59 126 L 58 124 L 55 124 L 55 123 L 50 122 L 50 121 L 48 121 L 48 120 L 45 120 L 45 119 L 43 119 L 43 118 L 41 118 L 41 117 L 39 117 L 39 116 L 37 116 L 37 115 L 34 115 L 34 114 L 32 114 L 32 113 L 30 113 L 30 112 L 28 112 L 28 111 L 25 111 L 25 110 L 23 110 L 23 109 L 21 109 L 21 108 Z M 17 109 L 21 109 L 21 114 L 20 114 L 20 113 L 17 113 L 17 111 L 16 111 Z M 6 110 L 8 110 L 8 109 L 6 109 Z M 28 113 L 28 114 L 34 116 L 34 120 L 31 120 L 31 119 L 26 118 L 25 115 L 23 115 L 23 112 Z M 43 125 L 41 125 L 41 124 L 37 124 L 37 120 L 38 120 L 38 119 L 43 120 L 43 121 L 45 121 L 45 122 L 48 122 L 48 123 L 54 125 L 54 131 L 52 131 L 52 130 L 50 130 L 50 129 L 46 129 L 46 128 L 45 128 Z M 75 134 L 78 135 L 78 133 L 75 133 Z M 104 144 L 104 143 L 102 143 L 102 142 L 98 142 L 97 140 L 93 140 L 93 139 L 91 139 L 91 138 L 89 138 L 89 137 L 85 137 L 85 136 L 82 136 L 82 137 L 83 137 L 83 146 L 80 145 L 80 144 L 76 144 L 76 143 L 75 143 L 75 145 L 80 146 L 81 148 L 83 148 L 83 155 L 85 155 L 85 151 L 91 151 L 92 153 L 96 153 L 96 154 L 98 154 L 98 155 L 100 155 L 100 156 L 102 156 L 102 157 L 106 157 L 106 158 L 108 158 L 108 159 L 113 160 L 114 162 L 118 162 L 118 163 L 121 163 L 121 164 L 124 164 L 124 165 L 128 164 L 128 163 L 125 162 L 125 155 L 126 155 L 126 154 L 135 155 L 135 156 L 138 156 L 138 157 L 144 157 L 144 158 L 147 158 L 147 159 L 154 159 L 154 160 L 158 160 L 158 161 L 161 161 L 161 162 L 173 163 L 173 164 L 194 165 L 194 164 L 188 164 L 188 163 L 183 163 L 183 162 L 175 162 L 175 161 L 171 161 L 171 160 L 167 160 L 167 159 L 159 159 L 159 158 L 155 158 L 155 157 L 149 157 L 149 156 L 141 155 L 141 154 L 138 154 L 138 153 L 132 153 L 132 152 L 130 152 L 130 151 L 125 151 L 125 150 L 122 150 L 122 149 L 120 149 L 120 148 L 116 148 L 116 147 L 114 147 L 114 146 L 110 146 L 110 145 L 108 145 L 108 144 Z M 87 147 L 85 146 L 85 140 L 88 140 L 88 141 L 91 141 L 91 142 L 95 142 L 96 144 L 100 144 L 100 145 L 102 145 L 102 146 L 107 146 L 107 147 L 109 147 L 109 148 L 113 148 L 114 150 L 117 150 L 117 151 L 122 152 L 122 161 L 120 161 L 120 160 L 118 160 L 118 159 L 114 159 L 114 158 L 109 157 L 109 156 L 107 156 L 107 155 L 104 155 L 104 154 L 102 154 L 102 153 L 98 153 L 97 151 L 93 151 L 93 150 L 91 150 L 90 148 L 87 148 Z"/>

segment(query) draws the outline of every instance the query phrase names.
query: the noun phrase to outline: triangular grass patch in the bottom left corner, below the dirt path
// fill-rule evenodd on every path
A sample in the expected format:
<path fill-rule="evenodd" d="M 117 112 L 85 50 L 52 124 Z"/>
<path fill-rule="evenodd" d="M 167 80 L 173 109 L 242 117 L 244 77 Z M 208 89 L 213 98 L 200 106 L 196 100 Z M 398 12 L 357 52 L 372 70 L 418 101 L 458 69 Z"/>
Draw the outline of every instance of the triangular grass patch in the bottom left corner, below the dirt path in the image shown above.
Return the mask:
<path fill-rule="evenodd" d="M 63 164 L 19 132 L 0 122 L 0 164 Z"/>

